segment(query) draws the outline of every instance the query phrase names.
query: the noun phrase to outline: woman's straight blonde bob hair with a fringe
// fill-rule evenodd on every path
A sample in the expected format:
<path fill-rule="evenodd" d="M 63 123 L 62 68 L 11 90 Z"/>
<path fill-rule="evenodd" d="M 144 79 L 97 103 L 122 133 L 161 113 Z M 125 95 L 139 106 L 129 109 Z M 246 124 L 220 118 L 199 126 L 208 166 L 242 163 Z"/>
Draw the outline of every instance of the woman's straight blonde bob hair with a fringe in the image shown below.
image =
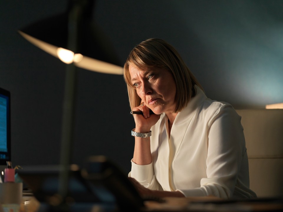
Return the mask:
<path fill-rule="evenodd" d="M 130 64 L 141 70 L 161 68 L 172 73 L 176 83 L 175 112 L 187 106 L 190 99 L 196 95 L 195 85 L 203 90 L 174 47 L 161 39 L 147 39 L 131 50 L 124 65 L 124 80 L 127 83 L 131 109 L 140 105 L 141 98 L 131 83 Z"/>

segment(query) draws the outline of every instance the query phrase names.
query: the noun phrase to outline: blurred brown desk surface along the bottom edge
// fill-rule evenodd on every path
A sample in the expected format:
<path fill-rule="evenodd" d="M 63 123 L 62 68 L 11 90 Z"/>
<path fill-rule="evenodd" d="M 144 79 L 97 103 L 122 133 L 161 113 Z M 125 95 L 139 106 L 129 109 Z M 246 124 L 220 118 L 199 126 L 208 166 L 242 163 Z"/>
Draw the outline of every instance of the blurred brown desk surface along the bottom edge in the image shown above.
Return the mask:
<path fill-rule="evenodd" d="M 283 198 L 255 198 L 251 200 L 222 200 L 215 197 L 163 198 L 164 202 L 145 201 L 145 207 L 137 212 L 275 212 L 283 211 Z M 40 203 L 32 199 L 30 205 L 22 206 L 21 212 L 37 212 Z M 41 210 L 42 211 L 42 210 Z M 84 212 L 83 210 L 70 210 Z M 94 205 L 90 212 L 107 212 Z M 111 211 L 111 210 L 110 210 Z M 112 210 L 113 211 L 113 210 Z M 86 211 L 85 211 L 86 212 Z M 117 211 L 115 211 L 117 212 Z M 127 211 L 126 211 L 127 212 Z"/>

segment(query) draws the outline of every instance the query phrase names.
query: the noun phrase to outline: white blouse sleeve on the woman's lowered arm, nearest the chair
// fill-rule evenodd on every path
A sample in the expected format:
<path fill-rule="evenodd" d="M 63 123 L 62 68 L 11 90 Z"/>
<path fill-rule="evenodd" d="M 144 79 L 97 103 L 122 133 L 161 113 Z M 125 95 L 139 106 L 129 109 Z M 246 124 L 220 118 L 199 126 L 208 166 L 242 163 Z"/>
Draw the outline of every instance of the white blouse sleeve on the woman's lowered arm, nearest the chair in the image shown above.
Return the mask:
<path fill-rule="evenodd" d="M 237 181 L 237 178 L 242 162 L 247 163 L 241 116 L 236 113 L 231 105 L 223 104 L 210 116 L 206 127 L 208 141 L 207 177 L 200 180 L 200 188 L 180 189 L 179 191 L 185 196 L 214 195 L 220 198 L 230 198 L 234 193 L 236 184 L 241 184 L 240 181 Z M 243 158 L 246 161 L 243 161 Z M 249 179 L 244 179 L 244 181 L 249 183 Z M 249 192 L 242 192 L 251 197 Z"/>

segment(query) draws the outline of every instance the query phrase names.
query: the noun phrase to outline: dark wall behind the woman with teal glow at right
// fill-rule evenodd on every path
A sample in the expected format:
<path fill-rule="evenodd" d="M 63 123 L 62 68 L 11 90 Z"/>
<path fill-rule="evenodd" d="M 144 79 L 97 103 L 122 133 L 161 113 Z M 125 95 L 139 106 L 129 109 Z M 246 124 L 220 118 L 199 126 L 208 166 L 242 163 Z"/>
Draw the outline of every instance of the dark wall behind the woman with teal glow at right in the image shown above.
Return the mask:
<path fill-rule="evenodd" d="M 12 162 L 57 164 L 66 65 L 17 29 L 65 11 L 67 1 L 0 2 L 0 87 L 11 91 Z M 283 102 L 283 1 L 96 1 L 93 19 L 123 65 L 134 45 L 162 38 L 209 98 L 235 108 Z M 121 75 L 79 70 L 73 162 L 106 155 L 128 172 L 134 121 Z"/>

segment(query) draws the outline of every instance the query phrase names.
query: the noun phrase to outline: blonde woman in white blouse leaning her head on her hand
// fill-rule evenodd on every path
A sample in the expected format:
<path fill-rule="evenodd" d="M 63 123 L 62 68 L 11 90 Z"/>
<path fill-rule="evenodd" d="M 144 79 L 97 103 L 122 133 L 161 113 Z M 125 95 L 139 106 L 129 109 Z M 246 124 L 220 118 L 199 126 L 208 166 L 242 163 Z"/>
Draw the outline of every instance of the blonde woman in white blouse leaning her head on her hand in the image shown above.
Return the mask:
<path fill-rule="evenodd" d="M 135 128 L 129 177 L 141 195 L 251 198 L 241 117 L 207 98 L 177 51 L 137 45 L 124 65 Z M 154 114 L 151 114 L 153 111 Z"/>

